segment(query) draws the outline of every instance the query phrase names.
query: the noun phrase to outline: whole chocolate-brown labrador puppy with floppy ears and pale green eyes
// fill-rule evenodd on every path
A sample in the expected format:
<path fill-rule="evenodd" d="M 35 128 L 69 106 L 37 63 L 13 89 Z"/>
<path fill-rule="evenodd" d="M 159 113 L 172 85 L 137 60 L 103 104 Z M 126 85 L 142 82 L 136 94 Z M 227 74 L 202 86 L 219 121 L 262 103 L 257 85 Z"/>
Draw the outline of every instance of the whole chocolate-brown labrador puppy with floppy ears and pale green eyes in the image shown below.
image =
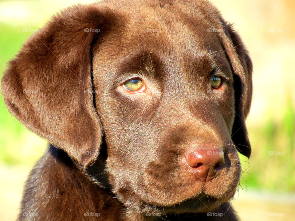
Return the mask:
<path fill-rule="evenodd" d="M 2 93 L 50 143 L 18 220 L 238 220 L 252 63 L 209 2 L 69 7 L 10 61 Z"/>

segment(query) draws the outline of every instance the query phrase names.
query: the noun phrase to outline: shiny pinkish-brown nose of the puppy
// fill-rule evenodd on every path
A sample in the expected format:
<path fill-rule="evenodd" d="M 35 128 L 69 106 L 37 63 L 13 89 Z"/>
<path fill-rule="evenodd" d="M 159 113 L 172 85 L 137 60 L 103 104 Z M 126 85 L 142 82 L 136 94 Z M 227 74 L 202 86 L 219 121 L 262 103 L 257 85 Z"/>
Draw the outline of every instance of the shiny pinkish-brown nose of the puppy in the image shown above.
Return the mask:
<path fill-rule="evenodd" d="M 187 164 L 195 171 L 195 177 L 210 180 L 224 167 L 224 153 L 220 148 L 196 149 L 186 155 Z"/>

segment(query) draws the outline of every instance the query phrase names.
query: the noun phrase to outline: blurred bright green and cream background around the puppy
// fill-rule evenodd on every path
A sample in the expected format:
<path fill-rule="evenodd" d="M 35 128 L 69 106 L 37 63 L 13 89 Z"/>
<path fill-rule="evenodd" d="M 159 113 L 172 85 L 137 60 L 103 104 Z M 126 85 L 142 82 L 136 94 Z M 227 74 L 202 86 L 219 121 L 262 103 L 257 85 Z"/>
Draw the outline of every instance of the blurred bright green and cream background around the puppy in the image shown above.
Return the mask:
<path fill-rule="evenodd" d="M 34 31 L 71 4 L 94 1 L 0 1 L 0 75 Z M 295 1 L 212 0 L 234 22 L 254 63 L 247 127 L 250 160 L 233 205 L 242 220 L 295 220 Z M 47 142 L 7 111 L 0 97 L 0 221 L 18 214 L 24 182 Z"/>

